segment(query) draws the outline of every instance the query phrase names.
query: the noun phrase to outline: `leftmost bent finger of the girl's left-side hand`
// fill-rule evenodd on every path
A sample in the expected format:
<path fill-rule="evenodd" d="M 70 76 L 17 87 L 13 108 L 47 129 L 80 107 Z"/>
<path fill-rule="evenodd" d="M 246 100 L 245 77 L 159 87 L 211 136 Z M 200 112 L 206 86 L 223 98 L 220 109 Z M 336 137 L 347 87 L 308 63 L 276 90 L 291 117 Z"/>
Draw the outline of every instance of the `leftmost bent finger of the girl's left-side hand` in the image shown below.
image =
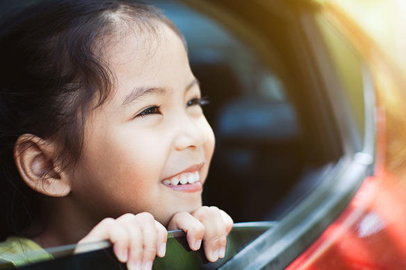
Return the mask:
<path fill-rule="evenodd" d="M 90 233 L 88 233 L 86 237 L 83 237 L 78 244 L 100 240 L 110 240 L 113 244 L 113 251 L 117 256 L 117 259 L 121 262 L 127 262 L 129 257 L 129 237 L 127 235 L 127 230 L 125 230 L 120 223 L 112 218 L 103 219 L 95 226 L 95 228 L 90 230 Z M 80 251 L 80 248 L 76 249 L 75 252 L 77 251 Z"/>

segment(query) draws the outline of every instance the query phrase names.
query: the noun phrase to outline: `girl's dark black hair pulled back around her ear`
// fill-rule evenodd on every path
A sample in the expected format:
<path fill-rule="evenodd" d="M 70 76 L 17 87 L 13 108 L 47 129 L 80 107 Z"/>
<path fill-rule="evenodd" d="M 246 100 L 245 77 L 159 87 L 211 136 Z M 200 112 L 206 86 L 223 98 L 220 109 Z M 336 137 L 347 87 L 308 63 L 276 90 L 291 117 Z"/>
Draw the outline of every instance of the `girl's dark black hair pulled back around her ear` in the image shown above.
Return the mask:
<path fill-rule="evenodd" d="M 77 164 L 87 112 L 101 106 L 113 90 L 114 74 L 97 51 L 97 42 L 119 32 L 117 18 L 152 32 L 156 22 L 164 22 L 181 37 L 159 10 L 134 1 L 41 1 L 3 20 L 0 205 L 6 220 L 0 240 L 24 236 L 41 214 L 40 194 L 24 183 L 13 158 L 20 135 L 56 138 L 60 155 L 53 161 Z"/>

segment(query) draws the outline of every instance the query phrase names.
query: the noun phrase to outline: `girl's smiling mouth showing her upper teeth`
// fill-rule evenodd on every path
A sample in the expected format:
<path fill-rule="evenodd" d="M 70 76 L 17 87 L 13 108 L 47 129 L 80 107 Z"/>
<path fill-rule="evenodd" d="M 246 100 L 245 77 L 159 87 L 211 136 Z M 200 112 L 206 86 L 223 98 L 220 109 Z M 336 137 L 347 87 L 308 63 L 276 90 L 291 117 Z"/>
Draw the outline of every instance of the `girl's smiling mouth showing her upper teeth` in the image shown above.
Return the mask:
<path fill-rule="evenodd" d="M 188 167 L 184 171 L 181 171 L 170 178 L 166 178 L 162 181 L 163 185 L 174 190 L 184 192 L 197 192 L 202 190 L 202 181 L 200 181 L 200 172 L 204 163 L 195 164 Z"/>

